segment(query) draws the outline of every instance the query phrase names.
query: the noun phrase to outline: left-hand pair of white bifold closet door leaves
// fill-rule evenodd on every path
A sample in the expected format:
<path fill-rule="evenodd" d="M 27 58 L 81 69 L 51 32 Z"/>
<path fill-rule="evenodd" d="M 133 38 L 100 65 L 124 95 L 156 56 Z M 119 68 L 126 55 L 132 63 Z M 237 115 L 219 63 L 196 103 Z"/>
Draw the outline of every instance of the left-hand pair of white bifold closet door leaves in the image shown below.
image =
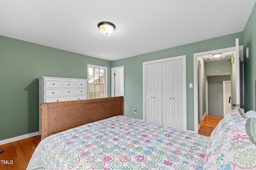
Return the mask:
<path fill-rule="evenodd" d="M 162 63 L 146 64 L 146 121 L 162 125 Z"/>

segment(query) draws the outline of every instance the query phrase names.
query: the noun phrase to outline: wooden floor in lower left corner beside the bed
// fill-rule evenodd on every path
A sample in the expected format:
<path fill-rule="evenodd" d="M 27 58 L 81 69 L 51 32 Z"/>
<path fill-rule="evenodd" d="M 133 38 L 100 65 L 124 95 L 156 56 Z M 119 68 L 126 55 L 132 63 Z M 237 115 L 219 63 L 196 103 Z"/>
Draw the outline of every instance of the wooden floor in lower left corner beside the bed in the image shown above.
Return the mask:
<path fill-rule="evenodd" d="M 0 170 L 26 170 L 40 141 L 41 137 L 38 135 L 0 145 L 0 149 L 5 149 L 0 153 Z"/>

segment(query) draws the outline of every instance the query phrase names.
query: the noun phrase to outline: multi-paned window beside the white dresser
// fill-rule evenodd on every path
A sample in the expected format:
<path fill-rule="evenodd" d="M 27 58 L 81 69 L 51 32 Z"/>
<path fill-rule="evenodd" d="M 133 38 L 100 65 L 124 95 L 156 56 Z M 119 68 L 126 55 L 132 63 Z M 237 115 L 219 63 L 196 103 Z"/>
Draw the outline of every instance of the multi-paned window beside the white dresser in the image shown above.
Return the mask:
<path fill-rule="evenodd" d="M 88 64 L 89 98 L 107 96 L 107 67 Z"/>

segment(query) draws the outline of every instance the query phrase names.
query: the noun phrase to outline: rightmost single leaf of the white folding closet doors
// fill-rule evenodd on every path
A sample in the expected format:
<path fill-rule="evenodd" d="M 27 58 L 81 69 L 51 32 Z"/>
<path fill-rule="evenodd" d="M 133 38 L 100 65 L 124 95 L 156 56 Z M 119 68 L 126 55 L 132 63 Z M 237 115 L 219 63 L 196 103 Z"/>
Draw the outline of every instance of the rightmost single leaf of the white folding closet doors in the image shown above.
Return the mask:
<path fill-rule="evenodd" d="M 183 129 L 183 68 L 182 60 L 172 61 L 172 127 Z"/>

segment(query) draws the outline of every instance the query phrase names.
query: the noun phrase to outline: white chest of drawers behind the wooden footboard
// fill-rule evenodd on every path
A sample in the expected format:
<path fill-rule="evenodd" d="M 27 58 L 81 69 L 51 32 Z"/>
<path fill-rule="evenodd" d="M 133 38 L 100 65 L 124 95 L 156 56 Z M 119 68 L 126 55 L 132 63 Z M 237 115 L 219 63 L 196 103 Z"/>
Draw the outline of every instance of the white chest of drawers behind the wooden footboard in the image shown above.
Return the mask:
<path fill-rule="evenodd" d="M 39 77 L 39 106 L 41 103 L 87 99 L 87 79 Z M 41 135 L 41 109 L 39 108 Z"/>

